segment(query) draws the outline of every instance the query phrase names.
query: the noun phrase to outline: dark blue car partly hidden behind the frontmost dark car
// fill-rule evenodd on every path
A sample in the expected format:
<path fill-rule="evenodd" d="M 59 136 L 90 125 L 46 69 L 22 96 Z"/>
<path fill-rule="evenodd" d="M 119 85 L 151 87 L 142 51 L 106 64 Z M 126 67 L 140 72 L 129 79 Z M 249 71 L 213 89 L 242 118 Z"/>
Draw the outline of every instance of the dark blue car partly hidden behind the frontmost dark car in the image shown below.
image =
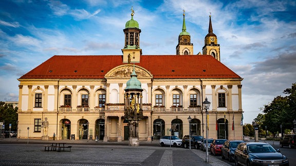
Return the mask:
<path fill-rule="evenodd" d="M 234 152 L 239 143 L 245 142 L 243 140 L 227 140 L 224 142 L 221 149 L 222 159 L 227 158 L 229 161 L 234 161 Z"/>

